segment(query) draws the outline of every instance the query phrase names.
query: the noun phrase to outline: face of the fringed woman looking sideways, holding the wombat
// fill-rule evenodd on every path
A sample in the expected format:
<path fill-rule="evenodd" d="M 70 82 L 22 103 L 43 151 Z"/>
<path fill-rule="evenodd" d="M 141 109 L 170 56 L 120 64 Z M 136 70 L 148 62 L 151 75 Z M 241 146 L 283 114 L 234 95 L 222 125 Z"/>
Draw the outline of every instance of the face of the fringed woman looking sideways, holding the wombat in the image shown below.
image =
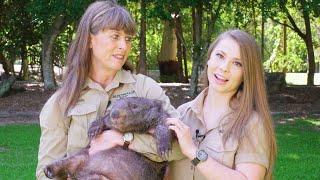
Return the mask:
<path fill-rule="evenodd" d="M 91 34 L 92 67 L 118 71 L 126 62 L 131 50 L 132 36 L 123 30 L 105 29 Z"/>

